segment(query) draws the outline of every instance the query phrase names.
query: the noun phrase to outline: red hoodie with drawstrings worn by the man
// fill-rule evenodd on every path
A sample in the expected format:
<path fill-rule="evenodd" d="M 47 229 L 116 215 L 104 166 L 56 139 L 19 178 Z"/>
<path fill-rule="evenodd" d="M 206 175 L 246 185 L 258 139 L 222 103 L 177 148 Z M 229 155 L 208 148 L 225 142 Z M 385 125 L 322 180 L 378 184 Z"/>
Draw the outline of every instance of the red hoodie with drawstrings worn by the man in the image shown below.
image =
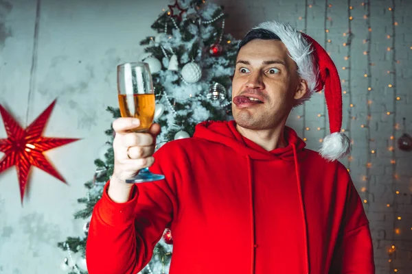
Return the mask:
<path fill-rule="evenodd" d="M 170 274 L 374 273 L 369 225 L 345 166 L 293 129 L 266 151 L 236 123 L 204 122 L 163 145 L 152 172 L 114 203 L 104 188 L 87 239 L 90 274 L 135 274 L 172 229 Z"/>

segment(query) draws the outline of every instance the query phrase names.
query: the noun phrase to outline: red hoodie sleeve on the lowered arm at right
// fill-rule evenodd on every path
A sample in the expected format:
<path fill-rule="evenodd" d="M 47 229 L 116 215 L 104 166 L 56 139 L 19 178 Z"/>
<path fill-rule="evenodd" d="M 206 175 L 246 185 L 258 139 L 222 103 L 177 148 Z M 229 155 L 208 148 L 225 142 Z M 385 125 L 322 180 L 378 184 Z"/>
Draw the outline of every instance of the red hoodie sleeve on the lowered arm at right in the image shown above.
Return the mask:
<path fill-rule="evenodd" d="M 345 213 L 341 232 L 336 242 L 330 274 L 374 274 L 374 250 L 372 245 L 369 221 L 347 171 L 343 171 L 349 179 Z"/>

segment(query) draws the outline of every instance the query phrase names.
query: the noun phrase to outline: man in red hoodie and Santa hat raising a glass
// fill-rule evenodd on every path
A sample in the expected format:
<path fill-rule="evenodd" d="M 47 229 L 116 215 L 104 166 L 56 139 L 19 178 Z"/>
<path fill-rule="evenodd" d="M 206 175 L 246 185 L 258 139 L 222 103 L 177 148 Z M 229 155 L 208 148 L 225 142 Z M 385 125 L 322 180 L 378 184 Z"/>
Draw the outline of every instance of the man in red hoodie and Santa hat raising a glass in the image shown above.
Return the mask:
<path fill-rule="evenodd" d="M 285 123 L 323 86 L 332 134 L 319 155 Z M 235 121 L 199 124 L 155 163 L 159 125 L 133 134 L 136 119 L 113 123 L 115 169 L 91 219 L 90 274 L 137 273 L 165 227 L 172 274 L 374 273 L 361 199 L 336 161 L 350 142 L 328 54 L 288 25 L 262 23 L 240 44 L 232 92 Z M 124 183 L 146 166 L 165 179 Z"/>

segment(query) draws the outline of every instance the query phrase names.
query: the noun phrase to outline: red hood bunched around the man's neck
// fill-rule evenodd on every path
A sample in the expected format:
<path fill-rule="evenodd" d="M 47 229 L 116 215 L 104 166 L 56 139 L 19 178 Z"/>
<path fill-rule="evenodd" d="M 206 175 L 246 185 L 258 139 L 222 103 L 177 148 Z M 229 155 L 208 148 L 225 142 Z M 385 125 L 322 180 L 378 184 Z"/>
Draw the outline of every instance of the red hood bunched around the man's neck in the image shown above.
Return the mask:
<path fill-rule="evenodd" d="M 254 160 L 288 160 L 294 161 L 293 147 L 297 153 L 304 151 L 306 143 L 297 136 L 295 130 L 290 127 L 284 129 L 286 147 L 266 151 L 253 141 L 242 136 L 236 129 L 236 121 L 206 121 L 196 125 L 195 138 L 203 138 L 211 142 L 218 142 L 231 147 L 242 155 Z"/>

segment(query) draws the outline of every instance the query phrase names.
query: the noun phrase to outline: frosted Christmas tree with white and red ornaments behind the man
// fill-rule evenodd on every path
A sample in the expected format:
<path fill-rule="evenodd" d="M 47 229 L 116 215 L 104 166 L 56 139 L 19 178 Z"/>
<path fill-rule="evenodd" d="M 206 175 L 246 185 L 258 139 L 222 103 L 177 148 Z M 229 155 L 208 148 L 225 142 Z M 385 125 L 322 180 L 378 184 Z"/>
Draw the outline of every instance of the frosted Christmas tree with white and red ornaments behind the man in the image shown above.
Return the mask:
<path fill-rule="evenodd" d="M 239 41 L 224 33 L 226 17 L 223 7 L 214 3 L 176 0 L 152 24 L 157 34 L 141 41 L 145 49 L 139 61 L 150 66 L 157 99 L 155 121 L 162 129 L 157 148 L 165 142 L 192 136 L 198 123 L 231 116 L 231 76 Z M 109 107 L 108 111 L 113 118 L 120 116 L 118 108 Z M 105 133 L 113 141 L 113 129 Z M 84 256 L 89 219 L 113 173 L 111 142 L 102 147 L 102 154 L 95 160 L 93 180 L 85 184 L 87 197 L 78 199 L 84 209 L 74 214 L 75 219 L 85 220 L 85 235 L 58 243 L 68 254 L 62 269 L 70 274 L 87 273 Z M 152 260 L 141 273 L 168 273 L 171 256 L 172 232 L 166 229 Z"/>

